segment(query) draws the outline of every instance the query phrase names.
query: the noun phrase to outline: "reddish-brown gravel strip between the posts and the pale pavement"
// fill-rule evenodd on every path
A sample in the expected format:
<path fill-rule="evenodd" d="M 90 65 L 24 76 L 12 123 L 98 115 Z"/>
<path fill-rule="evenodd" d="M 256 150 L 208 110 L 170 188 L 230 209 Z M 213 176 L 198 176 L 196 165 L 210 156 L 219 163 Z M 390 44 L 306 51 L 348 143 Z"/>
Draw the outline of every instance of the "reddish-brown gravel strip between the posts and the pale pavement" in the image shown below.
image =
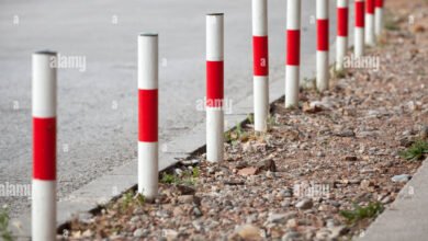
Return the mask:
<path fill-rule="evenodd" d="M 396 8 L 380 68 L 350 68 L 330 91 L 301 92 L 296 110 L 272 105 L 270 130 L 250 122 L 227 135 L 223 163 L 204 154 L 161 175 L 159 198 L 132 193 L 94 216 L 77 217 L 66 237 L 117 240 L 347 240 L 364 229 L 412 179 L 420 161 L 401 157 L 428 135 L 426 3 Z M 408 18 L 417 21 L 408 21 Z M 373 66 L 372 66 L 373 67 Z M 409 194 L 412 195 L 412 194 Z M 356 210 L 354 218 L 343 210 Z M 348 214 L 348 215 L 347 215 Z M 346 218 L 348 217 L 348 218 Z"/>

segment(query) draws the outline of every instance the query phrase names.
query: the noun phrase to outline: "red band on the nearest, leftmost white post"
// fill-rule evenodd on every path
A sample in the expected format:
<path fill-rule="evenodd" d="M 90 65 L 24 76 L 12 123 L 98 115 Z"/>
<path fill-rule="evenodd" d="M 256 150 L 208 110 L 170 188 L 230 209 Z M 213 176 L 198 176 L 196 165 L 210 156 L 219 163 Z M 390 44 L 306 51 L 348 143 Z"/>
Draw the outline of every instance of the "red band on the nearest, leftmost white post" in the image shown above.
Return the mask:
<path fill-rule="evenodd" d="M 33 177 L 56 180 L 56 118 L 33 117 Z"/>

